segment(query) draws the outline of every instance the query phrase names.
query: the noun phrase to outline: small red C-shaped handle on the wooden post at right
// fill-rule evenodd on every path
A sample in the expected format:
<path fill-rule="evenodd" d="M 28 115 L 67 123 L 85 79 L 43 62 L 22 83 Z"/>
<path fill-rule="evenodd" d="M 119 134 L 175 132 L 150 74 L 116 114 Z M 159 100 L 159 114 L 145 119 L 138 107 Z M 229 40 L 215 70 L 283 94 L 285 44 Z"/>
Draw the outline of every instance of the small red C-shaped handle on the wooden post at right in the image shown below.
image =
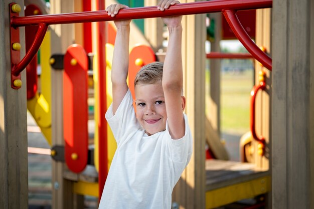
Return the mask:
<path fill-rule="evenodd" d="M 263 136 L 257 136 L 256 135 L 256 130 L 255 130 L 255 99 L 256 99 L 256 94 L 258 90 L 265 90 L 266 88 L 266 83 L 264 81 L 261 81 L 258 85 L 255 85 L 251 91 L 251 111 L 250 111 L 250 128 L 251 128 L 251 133 L 253 138 L 258 141 L 265 143 L 265 138 Z"/>

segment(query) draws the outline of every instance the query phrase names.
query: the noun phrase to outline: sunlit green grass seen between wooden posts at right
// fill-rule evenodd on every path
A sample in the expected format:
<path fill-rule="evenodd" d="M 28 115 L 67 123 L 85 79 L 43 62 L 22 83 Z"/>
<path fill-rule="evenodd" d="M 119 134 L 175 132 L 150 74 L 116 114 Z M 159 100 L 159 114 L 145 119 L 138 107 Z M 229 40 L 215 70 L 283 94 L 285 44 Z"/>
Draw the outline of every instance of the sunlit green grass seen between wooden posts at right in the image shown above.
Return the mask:
<path fill-rule="evenodd" d="M 209 73 L 206 72 L 206 86 Z M 253 71 L 221 74 L 221 131 L 243 134 L 249 130 L 250 92 L 253 87 Z M 209 91 L 208 89 L 206 90 Z M 207 93 L 208 94 L 208 93 Z"/>

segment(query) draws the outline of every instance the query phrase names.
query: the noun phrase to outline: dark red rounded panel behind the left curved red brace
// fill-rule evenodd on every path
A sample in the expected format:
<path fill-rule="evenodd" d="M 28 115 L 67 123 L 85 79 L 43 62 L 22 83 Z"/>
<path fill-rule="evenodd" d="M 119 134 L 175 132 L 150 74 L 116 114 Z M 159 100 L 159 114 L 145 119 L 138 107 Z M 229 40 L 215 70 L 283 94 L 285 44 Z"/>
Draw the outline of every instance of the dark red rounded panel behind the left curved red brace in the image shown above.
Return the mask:
<path fill-rule="evenodd" d="M 25 16 L 42 15 L 42 12 L 36 5 L 29 5 L 26 7 Z M 35 40 L 38 26 L 25 27 L 25 49 L 28 52 Z M 37 54 L 34 56 L 30 64 L 26 67 L 26 85 L 27 85 L 27 99 L 32 99 L 37 92 Z"/>

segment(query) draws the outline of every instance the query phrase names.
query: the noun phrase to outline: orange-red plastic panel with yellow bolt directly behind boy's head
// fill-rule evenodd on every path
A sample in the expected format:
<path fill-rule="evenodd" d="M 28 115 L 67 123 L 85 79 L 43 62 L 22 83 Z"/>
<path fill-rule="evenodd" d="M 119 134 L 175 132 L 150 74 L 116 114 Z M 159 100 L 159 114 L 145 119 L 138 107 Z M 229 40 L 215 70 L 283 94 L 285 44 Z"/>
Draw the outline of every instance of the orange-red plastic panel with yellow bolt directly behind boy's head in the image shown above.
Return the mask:
<path fill-rule="evenodd" d="M 136 73 L 144 65 L 155 62 L 156 56 L 150 47 L 141 45 L 141 46 L 134 47 L 132 49 L 129 58 L 130 59 L 129 59 L 128 85 L 132 93 L 133 99 L 135 99 L 134 79 L 135 79 Z M 137 64 L 135 63 L 137 59 L 141 60 L 141 65 L 138 65 L 139 62 L 137 62 Z"/>

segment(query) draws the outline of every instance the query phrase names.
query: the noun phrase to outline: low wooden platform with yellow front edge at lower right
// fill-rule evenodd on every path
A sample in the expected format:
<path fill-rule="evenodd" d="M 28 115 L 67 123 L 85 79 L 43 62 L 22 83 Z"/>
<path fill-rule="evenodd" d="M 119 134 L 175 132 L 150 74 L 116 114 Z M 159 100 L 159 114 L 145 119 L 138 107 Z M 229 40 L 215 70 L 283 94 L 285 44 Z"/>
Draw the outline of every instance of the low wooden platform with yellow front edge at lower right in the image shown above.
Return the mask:
<path fill-rule="evenodd" d="M 271 189 L 268 170 L 252 163 L 206 160 L 206 208 L 215 208 L 267 193 Z"/>

